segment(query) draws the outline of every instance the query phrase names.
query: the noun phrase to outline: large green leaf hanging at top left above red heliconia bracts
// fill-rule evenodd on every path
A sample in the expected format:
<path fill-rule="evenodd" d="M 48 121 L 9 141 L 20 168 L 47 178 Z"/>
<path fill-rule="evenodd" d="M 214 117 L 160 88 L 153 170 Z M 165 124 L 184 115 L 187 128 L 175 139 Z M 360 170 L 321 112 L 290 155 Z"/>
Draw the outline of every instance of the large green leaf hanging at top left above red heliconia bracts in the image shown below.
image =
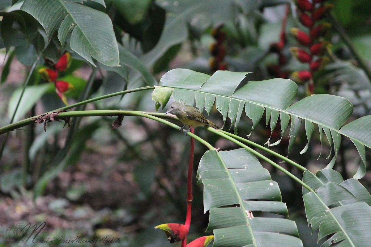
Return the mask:
<path fill-rule="evenodd" d="M 89 63 L 92 57 L 107 66 L 119 65 L 119 53 L 112 22 L 105 13 L 75 0 L 25 0 L 21 10 L 31 14 L 52 37 L 58 29 L 58 38 L 64 45 L 70 32 L 70 46 Z M 103 3 L 103 1 L 97 1 Z"/>

